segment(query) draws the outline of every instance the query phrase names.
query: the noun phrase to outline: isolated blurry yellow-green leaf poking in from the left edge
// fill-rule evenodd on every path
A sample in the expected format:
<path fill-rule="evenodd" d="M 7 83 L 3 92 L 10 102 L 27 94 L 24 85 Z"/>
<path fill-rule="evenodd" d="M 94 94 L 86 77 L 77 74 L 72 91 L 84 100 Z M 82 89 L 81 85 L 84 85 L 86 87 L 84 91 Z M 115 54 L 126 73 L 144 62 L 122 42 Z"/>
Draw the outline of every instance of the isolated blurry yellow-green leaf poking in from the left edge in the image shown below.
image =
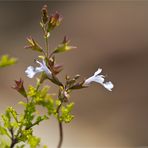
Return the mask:
<path fill-rule="evenodd" d="M 6 67 L 15 64 L 17 61 L 16 58 L 11 58 L 8 55 L 3 55 L 0 58 L 0 67 Z"/>

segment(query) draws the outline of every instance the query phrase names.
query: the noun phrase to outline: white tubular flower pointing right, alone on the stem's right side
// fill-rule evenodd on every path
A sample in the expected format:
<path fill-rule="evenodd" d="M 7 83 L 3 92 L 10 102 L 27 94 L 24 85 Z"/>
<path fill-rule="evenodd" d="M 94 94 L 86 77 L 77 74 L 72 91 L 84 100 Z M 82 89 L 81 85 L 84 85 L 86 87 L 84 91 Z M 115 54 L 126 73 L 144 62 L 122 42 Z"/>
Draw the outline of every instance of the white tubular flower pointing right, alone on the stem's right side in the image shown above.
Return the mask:
<path fill-rule="evenodd" d="M 114 87 L 113 83 L 111 81 L 109 82 L 104 82 L 105 81 L 105 76 L 104 75 L 100 75 L 102 69 L 99 68 L 93 76 L 89 77 L 88 79 L 85 80 L 84 82 L 84 86 L 88 86 L 90 85 L 91 82 L 97 82 L 100 83 L 101 85 L 103 85 L 106 89 L 108 89 L 109 91 L 112 91 L 112 88 Z"/>

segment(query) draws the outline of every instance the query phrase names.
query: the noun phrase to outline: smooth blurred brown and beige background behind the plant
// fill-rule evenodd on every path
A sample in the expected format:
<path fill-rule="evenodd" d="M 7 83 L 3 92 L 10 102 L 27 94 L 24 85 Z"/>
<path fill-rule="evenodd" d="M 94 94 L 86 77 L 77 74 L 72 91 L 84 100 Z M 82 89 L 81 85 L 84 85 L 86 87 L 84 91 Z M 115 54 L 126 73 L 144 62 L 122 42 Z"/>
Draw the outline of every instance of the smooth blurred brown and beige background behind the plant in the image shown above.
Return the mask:
<path fill-rule="evenodd" d="M 101 67 L 115 85 L 112 92 L 94 84 L 72 94 L 75 119 L 64 125 L 63 148 L 148 146 L 148 1 L 1 1 L 0 55 L 9 54 L 19 62 L 0 69 L 0 113 L 7 106 L 22 110 L 17 102 L 23 98 L 11 89 L 14 80 L 21 77 L 26 87 L 35 84 L 24 71 L 34 65 L 37 54 L 24 46 L 30 35 L 44 43 L 39 26 L 44 4 L 49 13 L 58 11 L 64 16 L 50 38 L 50 47 L 64 35 L 78 47 L 57 56 L 65 67 L 59 77 L 81 74 L 87 78 Z M 35 134 L 49 148 L 56 147 L 56 120 L 37 126 Z"/>

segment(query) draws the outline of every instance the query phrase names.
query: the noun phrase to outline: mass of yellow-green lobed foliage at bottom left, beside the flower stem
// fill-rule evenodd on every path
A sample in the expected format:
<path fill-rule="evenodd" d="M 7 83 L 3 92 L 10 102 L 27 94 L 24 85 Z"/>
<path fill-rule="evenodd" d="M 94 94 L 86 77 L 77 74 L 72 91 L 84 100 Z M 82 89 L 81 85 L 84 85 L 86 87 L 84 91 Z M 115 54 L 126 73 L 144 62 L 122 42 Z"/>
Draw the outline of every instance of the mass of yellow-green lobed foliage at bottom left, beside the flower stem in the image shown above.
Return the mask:
<path fill-rule="evenodd" d="M 27 91 L 27 99 L 27 103 L 19 102 L 24 107 L 23 113 L 19 114 L 14 108 L 8 107 L 5 113 L 2 114 L 3 122 L 0 125 L 0 135 L 6 136 L 9 141 L 13 141 L 16 144 L 23 142 L 24 144 L 28 143 L 31 148 L 36 148 L 40 145 L 40 138 L 33 134 L 32 128 L 49 118 L 49 115 L 54 111 L 54 102 L 48 94 L 46 86 L 38 90 L 30 86 Z M 48 110 L 47 115 L 37 113 L 37 105 L 46 107 Z M 5 140 L 3 141 L 2 145 L 5 144 Z M 8 142 L 6 144 L 9 145 Z"/>

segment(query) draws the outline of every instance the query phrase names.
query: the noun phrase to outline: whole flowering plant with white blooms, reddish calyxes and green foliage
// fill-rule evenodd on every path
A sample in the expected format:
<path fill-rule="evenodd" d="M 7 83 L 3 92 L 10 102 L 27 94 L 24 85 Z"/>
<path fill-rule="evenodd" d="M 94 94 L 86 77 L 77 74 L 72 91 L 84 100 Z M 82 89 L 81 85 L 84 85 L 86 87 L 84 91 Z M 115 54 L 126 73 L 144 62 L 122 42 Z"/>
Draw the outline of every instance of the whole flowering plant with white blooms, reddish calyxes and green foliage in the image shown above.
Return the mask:
<path fill-rule="evenodd" d="M 74 90 L 89 87 L 92 82 L 99 83 L 107 90 L 112 91 L 113 84 L 111 81 L 105 81 L 105 76 L 101 74 L 101 68 L 98 68 L 93 76 L 82 81 L 79 80 L 80 75 L 75 75 L 72 78 L 66 75 L 65 82 L 58 78 L 58 74 L 62 71 L 63 66 L 56 63 L 56 54 L 76 48 L 70 45 L 70 40 L 65 36 L 54 50 L 49 49 L 48 40 L 53 30 L 61 24 L 62 19 L 63 17 L 58 12 L 49 16 L 47 6 L 44 5 L 41 10 L 40 26 L 43 30 L 45 47 L 42 47 L 32 37 L 27 38 L 28 45 L 25 48 L 32 49 L 38 52 L 39 55 L 35 59 L 38 66 L 28 66 L 25 73 L 28 78 L 34 78 L 37 77 L 37 74 L 39 75 L 36 85 L 29 86 L 28 89 L 24 87 L 24 82 L 21 78 L 15 81 L 15 85 L 12 88 L 19 92 L 26 100 L 19 102 L 19 104 L 23 105 L 24 112 L 18 113 L 13 107 L 8 107 L 2 115 L 0 134 L 4 138 L 1 140 L 1 147 L 23 148 L 26 145 L 30 145 L 31 148 L 36 148 L 40 146 L 40 138 L 34 135 L 33 127 L 39 125 L 44 120 L 49 120 L 50 116 L 54 116 L 59 123 L 60 139 L 57 148 L 61 148 L 63 142 L 62 125 L 63 123 L 70 123 L 74 118 L 74 115 L 71 114 L 74 102 L 71 102 L 70 94 Z M 3 58 L 0 61 L 2 66 L 13 64 L 15 61 L 14 59 L 8 60 L 8 57 L 5 57 L 7 59 L 6 64 Z M 58 87 L 56 97 L 49 94 L 49 86 L 45 86 L 44 81 L 53 83 Z M 43 115 L 38 115 L 36 113 L 36 106 L 42 106 L 47 112 Z"/>

